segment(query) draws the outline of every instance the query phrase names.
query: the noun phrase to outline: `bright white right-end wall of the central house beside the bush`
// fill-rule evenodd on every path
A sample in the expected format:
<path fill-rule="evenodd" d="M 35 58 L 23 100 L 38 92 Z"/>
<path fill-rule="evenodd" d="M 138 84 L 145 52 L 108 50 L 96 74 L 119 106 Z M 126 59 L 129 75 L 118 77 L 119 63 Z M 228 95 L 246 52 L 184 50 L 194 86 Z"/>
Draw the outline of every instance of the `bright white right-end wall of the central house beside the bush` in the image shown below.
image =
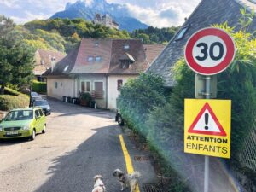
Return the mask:
<path fill-rule="evenodd" d="M 135 79 L 137 75 L 111 75 L 108 77 L 108 109 L 116 109 L 116 99 L 119 96 L 118 80 L 123 80 L 123 85 L 128 79 Z"/>

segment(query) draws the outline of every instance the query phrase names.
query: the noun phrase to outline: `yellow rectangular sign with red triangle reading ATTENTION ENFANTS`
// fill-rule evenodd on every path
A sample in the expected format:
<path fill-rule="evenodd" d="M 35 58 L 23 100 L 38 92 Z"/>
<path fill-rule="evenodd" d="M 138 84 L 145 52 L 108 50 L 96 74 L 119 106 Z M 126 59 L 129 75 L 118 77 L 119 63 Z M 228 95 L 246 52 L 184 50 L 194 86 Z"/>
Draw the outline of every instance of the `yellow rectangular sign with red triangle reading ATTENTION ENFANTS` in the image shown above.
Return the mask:
<path fill-rule="evenodd" d="M 184 152 L 230 158 L 231 101 L 185 99 Z"/>

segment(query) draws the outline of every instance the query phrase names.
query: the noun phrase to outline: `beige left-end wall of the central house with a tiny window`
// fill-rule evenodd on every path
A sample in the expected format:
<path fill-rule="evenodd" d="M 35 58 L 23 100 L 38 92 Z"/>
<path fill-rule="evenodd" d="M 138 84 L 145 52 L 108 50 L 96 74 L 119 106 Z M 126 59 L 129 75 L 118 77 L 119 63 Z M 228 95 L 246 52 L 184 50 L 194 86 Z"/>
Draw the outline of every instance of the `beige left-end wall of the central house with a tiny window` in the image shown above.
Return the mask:
<path fill-rule="evenodd" d="M 50 97 L 60 100 L 62 96 L 76 97 L 74 87 L 74 79 L 47 78 L 47 95 Z"/>

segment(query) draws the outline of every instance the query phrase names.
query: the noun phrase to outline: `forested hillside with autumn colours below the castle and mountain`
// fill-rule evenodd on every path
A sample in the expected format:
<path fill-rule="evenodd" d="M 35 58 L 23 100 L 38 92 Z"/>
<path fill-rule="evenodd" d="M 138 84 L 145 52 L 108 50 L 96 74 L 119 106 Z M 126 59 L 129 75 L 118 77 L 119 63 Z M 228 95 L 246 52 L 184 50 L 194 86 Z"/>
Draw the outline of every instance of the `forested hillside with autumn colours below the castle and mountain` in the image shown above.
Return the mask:
<path fill-rule="evenodd" d="M 178 27 L 154 28 L 127 32 L 106 26 L 94 25 L 83 19 L 33 20 L 24 26 L 16 26 L 27 44 L 34 49 L 56 49 L 68 52 L 81 38 L 141 38 L 145 44 L 167 43 Z"/>

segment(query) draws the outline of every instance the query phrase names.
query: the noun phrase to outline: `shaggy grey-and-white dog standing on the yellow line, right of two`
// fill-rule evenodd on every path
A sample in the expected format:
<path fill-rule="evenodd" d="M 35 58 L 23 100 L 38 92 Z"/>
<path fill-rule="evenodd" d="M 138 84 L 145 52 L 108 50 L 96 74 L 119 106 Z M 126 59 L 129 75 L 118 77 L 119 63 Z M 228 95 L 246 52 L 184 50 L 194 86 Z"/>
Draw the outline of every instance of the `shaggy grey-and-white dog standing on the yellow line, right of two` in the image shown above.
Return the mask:
<path fill-rule="evenodd" d="M 116 169 L 113 171 L 113 176 L 119 178 L 119 183 L 121 184 L 122 191 L 130 185 L 131 192 L 135 192 L 138 179 L 141 177 L 141 173 L 132 172 L 131 174 L 125 174 L 125 172 Z"/>

